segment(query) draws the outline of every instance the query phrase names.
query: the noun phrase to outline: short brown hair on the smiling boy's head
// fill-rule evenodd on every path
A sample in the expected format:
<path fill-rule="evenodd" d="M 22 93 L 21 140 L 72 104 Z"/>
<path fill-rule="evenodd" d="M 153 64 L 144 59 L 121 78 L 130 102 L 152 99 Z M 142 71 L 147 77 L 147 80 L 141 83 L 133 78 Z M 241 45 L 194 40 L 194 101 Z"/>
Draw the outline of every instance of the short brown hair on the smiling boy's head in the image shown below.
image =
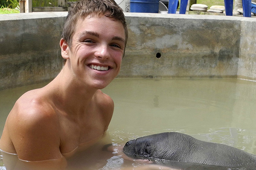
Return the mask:
<path fill-rule="evenodd" d="M 116 4 L 114 0 L 80 0 L 74 3 L 67 14 L 66 21 L 61 37 L 71 47 L 72 36 L 79 19 L 96 14 L 96 16 L 105 15 L 120 21 L 125 29 L 125 46 L 128 39 L 128 30 L 123 10 Z M 65 63 L 65 61 L 64 61 Z"/>

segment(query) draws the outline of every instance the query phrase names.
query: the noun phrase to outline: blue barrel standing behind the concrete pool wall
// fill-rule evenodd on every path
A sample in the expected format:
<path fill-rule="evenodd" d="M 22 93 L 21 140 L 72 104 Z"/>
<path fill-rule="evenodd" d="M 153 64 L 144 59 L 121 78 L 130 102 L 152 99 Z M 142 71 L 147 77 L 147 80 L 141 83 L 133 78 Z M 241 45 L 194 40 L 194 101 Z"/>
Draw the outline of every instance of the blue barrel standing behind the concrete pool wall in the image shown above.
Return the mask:
<path fill-rule="evenodd" d="M 158 13 L 159 0 L 130 0 L 130 12 Z"/>

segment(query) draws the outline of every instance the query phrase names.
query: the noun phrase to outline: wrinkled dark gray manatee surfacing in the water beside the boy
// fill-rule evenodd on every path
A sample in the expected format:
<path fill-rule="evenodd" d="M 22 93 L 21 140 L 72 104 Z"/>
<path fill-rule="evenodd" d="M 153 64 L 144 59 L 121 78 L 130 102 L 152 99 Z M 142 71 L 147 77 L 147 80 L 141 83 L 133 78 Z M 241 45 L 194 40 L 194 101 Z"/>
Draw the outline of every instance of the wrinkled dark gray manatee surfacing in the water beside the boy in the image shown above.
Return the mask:
<path fill-rule="evenodd" d="M 183 169 L 256 170 L 255 155 L 224 144 L 200 141 L 183 133 L 137 138 L 128 141 L 123 152 L 134 159 L 148 159 Z"/>

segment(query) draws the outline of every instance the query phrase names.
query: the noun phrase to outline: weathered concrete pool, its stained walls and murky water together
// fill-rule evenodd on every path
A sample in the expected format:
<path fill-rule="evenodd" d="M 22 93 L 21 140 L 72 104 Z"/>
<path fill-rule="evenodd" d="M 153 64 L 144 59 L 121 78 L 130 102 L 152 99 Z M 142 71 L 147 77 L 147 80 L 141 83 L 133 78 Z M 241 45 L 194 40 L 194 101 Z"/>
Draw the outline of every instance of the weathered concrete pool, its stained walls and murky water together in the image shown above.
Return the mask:
<path fill-rule="evenodd" d="M 60 71 L 58 42 L 66 15 L 0 15 L 0 128 L 21 94 L 43 86 L 37 83 Z M 125 15 L 129 40 L 122 69 L 103 90 L 116 106 L 110 141 L 118 145 L 143 135 L 177 131 L 256 154 L 256 18 Z M 77 154 L 69 168 L 140 166 L 112 153 L 88 158 L 92 153 L 93 148 Z"/>

